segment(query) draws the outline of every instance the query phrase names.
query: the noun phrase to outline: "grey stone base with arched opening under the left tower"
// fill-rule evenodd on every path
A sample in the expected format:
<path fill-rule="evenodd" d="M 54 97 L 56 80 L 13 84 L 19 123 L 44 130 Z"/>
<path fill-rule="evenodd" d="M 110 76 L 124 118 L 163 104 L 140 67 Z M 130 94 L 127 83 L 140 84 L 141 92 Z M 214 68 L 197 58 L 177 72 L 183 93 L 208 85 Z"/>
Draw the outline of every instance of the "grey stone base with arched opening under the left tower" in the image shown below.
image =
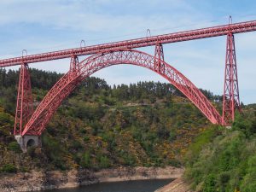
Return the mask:
<path fill-rule="evenodd" d="M 20 148 L 23 153 L 26 153 L 28 147 L 41 147 L 42 142 L 39 136 L 20 136 L 16 135 L 15 139 L 20 144 Z"/>

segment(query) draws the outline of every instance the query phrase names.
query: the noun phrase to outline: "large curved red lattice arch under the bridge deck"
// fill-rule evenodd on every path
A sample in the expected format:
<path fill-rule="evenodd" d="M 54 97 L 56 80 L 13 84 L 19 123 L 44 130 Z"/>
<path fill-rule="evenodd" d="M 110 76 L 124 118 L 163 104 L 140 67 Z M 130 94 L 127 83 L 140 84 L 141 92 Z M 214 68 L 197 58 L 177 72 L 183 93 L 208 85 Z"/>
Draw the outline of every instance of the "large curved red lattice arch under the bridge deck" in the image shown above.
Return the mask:
<path fill-rule="evenodd" d="M 73 71 L 69 71 L 51 88 L 51 90 L 49 90 L 49 93 L 38 105 L 38 108 L 32 114 L 32 118 L 26 124 L 22 136 L 41 135 L 45 129 L 45 125 L 47 125 L 49 119 L 55 113 L 55 110 L 78 84 L 92 73 L 96 73 L 104 67 L 119 64 L 131 64 L 146 67 L 155 73 L 160 74 L 177 87 L 178 90 L 183 92 L 183 94 L 187 96 L 213 124 L 221 124 L 222 119 L 218 111 L 212 106 L 212 103 L 207 100 L 207 97 L 189 81 L 189 79 L 178 72 L 177 69 L 168 65 L 165 61 L 160 61 L 165 66 L 165 73 L 162 73 L 161 70 L 155 71 L 155 60 L 157 60 L 157 58 L 152 55 L 131 49 L 119 49 L 92 55 L 86 58 L 84 61 L 79 62 L 75 71 L 76 75 L 73 75 Z"/>

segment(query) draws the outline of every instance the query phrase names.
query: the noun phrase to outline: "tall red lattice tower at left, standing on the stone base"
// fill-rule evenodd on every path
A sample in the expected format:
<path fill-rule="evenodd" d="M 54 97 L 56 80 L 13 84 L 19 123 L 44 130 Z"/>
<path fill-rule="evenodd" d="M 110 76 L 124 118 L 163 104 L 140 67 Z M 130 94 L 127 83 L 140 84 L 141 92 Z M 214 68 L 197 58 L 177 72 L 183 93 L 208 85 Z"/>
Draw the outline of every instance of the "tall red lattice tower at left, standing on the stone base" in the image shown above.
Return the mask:
<path fill-rule="evenodd" d="M 31 80 L 28 66 L 23 63 L 20 67 L 20 81 L 17 95 L 15 115 L 15 135 L 21 135 L 24 126 L 33 113 Z"/>

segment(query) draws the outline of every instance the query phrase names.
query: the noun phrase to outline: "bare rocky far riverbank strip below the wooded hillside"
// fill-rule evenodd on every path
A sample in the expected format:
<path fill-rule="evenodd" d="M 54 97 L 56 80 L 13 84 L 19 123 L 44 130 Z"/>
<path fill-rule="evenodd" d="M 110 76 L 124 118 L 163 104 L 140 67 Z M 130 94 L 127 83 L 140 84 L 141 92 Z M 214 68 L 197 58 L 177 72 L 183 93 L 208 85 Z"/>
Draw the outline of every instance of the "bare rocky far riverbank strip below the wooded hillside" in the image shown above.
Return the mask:
<path fill-rule="evenodd" d="M 71 170 L 68 172 L 26 172 L 0 175 L 0 191 L 37 191 L 44 189 L 74 188 L 92 183 L 118 182 L 144 179 L 178 178 L 183 168 L 173 166 L 160 167 L 118 167 L 103 169 L 99 172 L 91 170 Z"/>

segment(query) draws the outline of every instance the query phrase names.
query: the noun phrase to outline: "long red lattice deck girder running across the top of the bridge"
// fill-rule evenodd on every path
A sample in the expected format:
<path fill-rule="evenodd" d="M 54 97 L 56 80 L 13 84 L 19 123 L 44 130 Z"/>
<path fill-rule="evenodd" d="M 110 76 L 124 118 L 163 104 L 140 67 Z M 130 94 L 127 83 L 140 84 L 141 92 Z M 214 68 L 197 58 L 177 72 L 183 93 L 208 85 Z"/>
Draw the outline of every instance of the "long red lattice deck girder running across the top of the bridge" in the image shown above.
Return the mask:
<path fill-rule="evenodd" d="M 155 44 L 170 44 L 181 41 L 189 41 L 199 38 L 212 38 L 227 35 L 229 33 L 253 32 L 256 31 L 256 20 L 229 24 L 224 26 L 213 26 L 186 32 L 174 32 L 165 35 L 152 36 L 147 38 L 136 38 L 131 40 L 119 41 L 110 44 L 98 44 L 76 49 L 64 49 L 49 53 L 27 55 L 0 60 L 0 67 L 10 67 L 20 65 L 22 62 L 32 63 L 41 61 L 51 61 L 63 58 L 70 58 L 73 55 L 92 55 L 100 52 L 108 52 L 113 49 L 135 49 L 140 47 L 152 46 Z"/>

